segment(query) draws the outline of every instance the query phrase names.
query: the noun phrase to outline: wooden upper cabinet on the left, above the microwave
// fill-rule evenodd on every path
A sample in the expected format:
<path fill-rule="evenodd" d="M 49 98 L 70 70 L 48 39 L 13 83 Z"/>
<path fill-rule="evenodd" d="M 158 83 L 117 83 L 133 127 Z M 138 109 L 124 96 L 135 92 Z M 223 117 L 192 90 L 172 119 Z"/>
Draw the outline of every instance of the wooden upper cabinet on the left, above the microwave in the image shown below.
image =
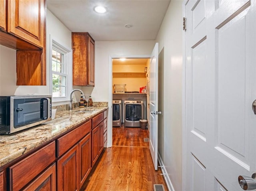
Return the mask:
<path fill-rule="evenodd" d="M 16 85 L 46 85 L 46 0 L 0 0 L 0 44 L 16 51 Z"/>

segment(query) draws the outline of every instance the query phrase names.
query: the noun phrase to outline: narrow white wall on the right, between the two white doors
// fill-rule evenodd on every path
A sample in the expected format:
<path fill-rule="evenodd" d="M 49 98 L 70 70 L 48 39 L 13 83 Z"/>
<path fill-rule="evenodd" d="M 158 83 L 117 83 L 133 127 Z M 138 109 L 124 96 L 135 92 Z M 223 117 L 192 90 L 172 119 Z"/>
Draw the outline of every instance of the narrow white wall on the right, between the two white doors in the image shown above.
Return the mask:
<path fill-rule="evenodd" d="M 158 32 L 164 48 L 164 129 L 160 156 L 174 190 L 182 185 L 182 0 L 172 0 Z"/>

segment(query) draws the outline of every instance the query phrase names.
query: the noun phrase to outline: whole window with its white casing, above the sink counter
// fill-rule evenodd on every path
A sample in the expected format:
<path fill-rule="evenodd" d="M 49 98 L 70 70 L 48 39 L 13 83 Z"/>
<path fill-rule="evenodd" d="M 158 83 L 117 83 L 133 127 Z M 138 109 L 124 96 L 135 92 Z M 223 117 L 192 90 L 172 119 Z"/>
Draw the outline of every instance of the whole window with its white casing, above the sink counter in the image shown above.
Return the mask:
<path fill-rule="evenodd" d="M 67 95 L 71 91 L 72 61 L 71 50 L 66 49 L 56 41 L 51 39 L 50 46 L 50 89 L 52 100 L 66 101 Z"/>

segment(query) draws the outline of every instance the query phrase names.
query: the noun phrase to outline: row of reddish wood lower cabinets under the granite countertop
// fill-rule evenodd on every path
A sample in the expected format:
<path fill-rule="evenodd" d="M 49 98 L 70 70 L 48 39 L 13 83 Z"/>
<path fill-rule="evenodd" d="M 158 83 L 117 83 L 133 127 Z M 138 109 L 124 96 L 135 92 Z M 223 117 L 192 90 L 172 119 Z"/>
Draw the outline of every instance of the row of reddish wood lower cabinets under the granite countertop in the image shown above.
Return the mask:
<path fill-rule="evenodd" d="M 103 116 L 98 114 L 1 171 L 0 191 L 79 191 L 106 144 Z"/>

